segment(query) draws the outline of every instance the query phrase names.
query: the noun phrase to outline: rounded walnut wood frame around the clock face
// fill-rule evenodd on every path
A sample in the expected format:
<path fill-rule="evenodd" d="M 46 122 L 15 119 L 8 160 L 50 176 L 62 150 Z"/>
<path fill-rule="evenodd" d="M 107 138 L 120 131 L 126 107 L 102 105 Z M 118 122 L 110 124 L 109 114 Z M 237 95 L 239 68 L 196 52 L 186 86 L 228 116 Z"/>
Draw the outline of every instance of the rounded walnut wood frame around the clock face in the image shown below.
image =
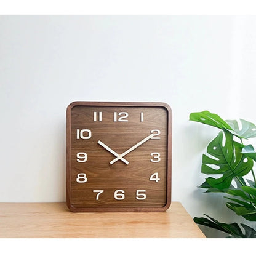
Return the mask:
<path fill-rule="evenodd" d="M 88 106 L 88 107 L 150 107 L 150 108 L 164 108 L 167 113 L 167 148 L 166 148 L 166 198 L 164 206 L 156 207 L 76 207 L 73 205 L 71 197 L 71 151 L 72 151 L 72 109 L 74 106 Z M 121 162 L 121 161 L 119 161 Z M 172 110 L 166 103 L 159 102 L 73 102 L 68 105 L 66 110 L 66 204 L 72 212 L 164 212 L 171 204 L 171 172 L 172 172 Z"/>

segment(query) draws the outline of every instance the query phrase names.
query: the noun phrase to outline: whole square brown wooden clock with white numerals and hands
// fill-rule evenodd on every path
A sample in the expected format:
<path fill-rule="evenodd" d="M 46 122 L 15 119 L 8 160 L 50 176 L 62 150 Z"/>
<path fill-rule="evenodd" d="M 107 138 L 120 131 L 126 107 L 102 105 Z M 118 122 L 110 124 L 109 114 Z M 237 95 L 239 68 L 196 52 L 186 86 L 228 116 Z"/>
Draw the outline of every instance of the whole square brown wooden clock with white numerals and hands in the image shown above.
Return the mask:
<path fill-rule="evenodd" d="M 71 103 L 66 140 L 69 209 L 167 210 L 171 123 L 165 103 Z"/>

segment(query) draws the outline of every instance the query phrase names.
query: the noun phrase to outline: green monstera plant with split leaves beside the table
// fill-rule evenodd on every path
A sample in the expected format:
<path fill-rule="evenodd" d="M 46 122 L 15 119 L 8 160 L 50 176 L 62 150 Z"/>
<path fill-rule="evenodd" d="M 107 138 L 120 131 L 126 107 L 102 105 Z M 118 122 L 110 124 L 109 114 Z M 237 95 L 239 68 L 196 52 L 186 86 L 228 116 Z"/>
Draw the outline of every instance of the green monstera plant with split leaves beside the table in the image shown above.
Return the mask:
<path fill-rule="evenodd" d="M 201 122 L 220 129 L 217 137 L 207 146 L 207 153 L 202 155 L 202 174 L 207 178 L 199 188 L 206 193 L 223 193 L 228 199 L 226 207 L 236 215 L 256 221 L 256 178 L 253 170 L 256 161 L 254 147 L 248 142 L 256 137 L 256 126 L 240 119 L 224 121 L 217 114 L 202 111 L 190 114 L 190 120 Z M 251 179 L 246 175 L 251 174 Z M 222 175 L 216 178 L 215 175 Z M 231 183 L 235 182 L 232 185 Z M 206 215 L 195 217 L 194 222 L 227 233 L 232 238 L 256 238 L 256 231 L 244 223 L 221 223 Z"/>

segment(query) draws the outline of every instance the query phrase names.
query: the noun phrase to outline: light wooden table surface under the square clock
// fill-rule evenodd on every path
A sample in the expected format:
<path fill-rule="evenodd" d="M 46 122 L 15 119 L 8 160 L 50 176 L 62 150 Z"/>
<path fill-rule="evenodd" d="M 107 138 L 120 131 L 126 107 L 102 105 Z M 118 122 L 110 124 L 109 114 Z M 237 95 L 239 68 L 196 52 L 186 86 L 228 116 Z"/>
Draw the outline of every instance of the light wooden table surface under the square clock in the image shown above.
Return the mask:
<path fill-rule="evenodd" d="M 0 238 L 205 238 L 180 202 L 167 212 L 70 212 L 65 202 L 0 203 Z"/>

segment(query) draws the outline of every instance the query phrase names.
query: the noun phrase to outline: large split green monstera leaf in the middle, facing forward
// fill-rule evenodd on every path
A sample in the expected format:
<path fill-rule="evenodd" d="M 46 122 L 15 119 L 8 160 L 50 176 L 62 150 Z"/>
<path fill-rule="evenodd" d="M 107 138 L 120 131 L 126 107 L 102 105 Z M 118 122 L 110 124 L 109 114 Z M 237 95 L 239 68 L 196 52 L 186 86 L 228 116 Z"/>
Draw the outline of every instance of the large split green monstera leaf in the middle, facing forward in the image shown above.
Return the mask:
<path fill-rule="evenodd" d="M 223 145 L 223 134 L 225 145 Z M 208 185 L 218 190 L 229 188 L 233 178 L 242 177 L 252 170 L 253 161 L 241 153 L 243 145 L 233 141 L 230 132 L 220 132 L 207 146 L 207 153 L 202 156 L 202 169 L 204 174 L 221 174 L 220 178 L 209 177 Z"/>

